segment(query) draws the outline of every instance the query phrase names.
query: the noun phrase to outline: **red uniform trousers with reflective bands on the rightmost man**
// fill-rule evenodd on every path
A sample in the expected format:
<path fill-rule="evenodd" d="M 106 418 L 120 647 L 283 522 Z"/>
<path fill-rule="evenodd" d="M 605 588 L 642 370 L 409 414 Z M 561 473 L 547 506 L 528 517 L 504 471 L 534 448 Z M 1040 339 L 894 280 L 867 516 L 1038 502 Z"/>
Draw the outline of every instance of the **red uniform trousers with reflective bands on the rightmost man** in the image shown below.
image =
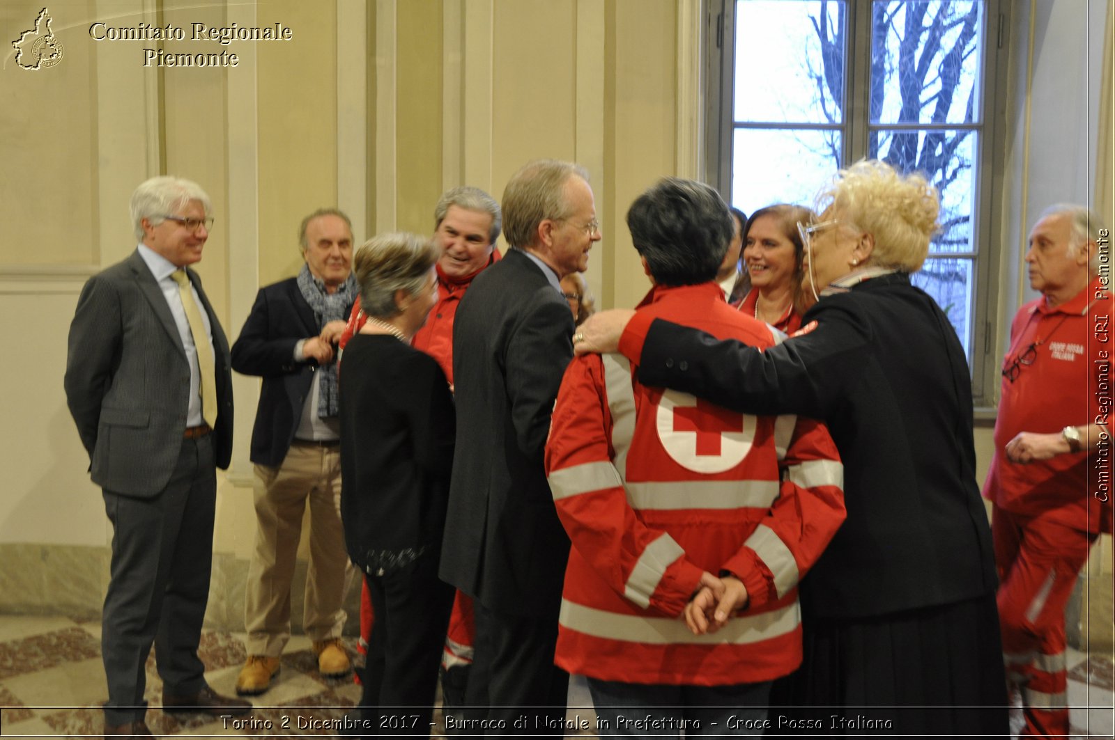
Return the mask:
<path fill-rule="evenodd" d="M 1065 605 L 1096 535 L 992 509 L 1007 679 L 1022 692 L 1022 736 L 1067 736 Z"/>

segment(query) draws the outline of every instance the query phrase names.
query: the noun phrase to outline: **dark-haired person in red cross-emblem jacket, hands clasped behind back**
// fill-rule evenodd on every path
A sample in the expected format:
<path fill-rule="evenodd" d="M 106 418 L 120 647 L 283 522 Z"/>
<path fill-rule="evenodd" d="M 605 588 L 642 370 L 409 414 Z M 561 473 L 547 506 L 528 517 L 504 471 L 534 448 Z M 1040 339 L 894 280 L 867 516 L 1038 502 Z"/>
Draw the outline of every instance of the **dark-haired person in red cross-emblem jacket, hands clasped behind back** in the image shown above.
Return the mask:
<path fill-rule="evenodd" d="M 655 283 L 639 312 L 774 344 L 714 282 L 731 237 L 716 191 L 663 179 L 628 226 Z M 586 354 L 562 380 L 546 473 L 572 543 L 555 662 L 588 676 L 601 734 L 762 734 L 770 681 L 802 660 L 797 582 L 844 520 L 824 426 L 642 386 L 622 357 Z"/>

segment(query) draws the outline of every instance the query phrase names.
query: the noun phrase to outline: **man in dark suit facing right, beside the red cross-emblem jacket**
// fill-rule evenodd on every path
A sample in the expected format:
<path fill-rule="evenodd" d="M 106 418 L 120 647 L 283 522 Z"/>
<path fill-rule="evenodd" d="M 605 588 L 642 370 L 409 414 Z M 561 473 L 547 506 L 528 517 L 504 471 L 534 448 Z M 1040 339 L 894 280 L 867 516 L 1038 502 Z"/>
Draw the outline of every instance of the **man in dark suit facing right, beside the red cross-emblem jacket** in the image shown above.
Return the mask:
<path fill-rule="evenodd" d="M 481 273 L 457 309 L 453 370 L 457 451 L 440 576 L 475 600 L 476 652 L 466 701 L 492 732 L 562 727 L 569 675 L 554 666 L 569 539 L 543 452 L 558 387 L 573 357 L 564 275 L 583 272 L 600 240 L 588 173 L 531 162 L 507 183 L 511 251 Z M 526 708 L 550 708 L 525 712 Z M 526 717 L 526 729 L 515 726 Z M 469 718 L 473 719 L 473 718 Z M 466 730 L 468 728 L 465 728 Z"/>

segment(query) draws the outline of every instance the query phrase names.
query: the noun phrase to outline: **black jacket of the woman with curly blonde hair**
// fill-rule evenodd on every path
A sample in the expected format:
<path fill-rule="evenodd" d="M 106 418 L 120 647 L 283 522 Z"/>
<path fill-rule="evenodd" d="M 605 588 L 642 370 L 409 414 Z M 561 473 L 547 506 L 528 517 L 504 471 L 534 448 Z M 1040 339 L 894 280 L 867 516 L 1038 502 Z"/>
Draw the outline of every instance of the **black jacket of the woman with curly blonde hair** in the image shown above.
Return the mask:
<path fill-rule="evenodd" d="M 971 380 L 948 318 L 896 273 L 823 298 L 802 325 L 813 321 L 763 352 L 656 321 L 634 358 L 639 380 L 828 426 L 847 518 L 802 582 L 809 615 L 892 614 L 995 593 Z"/>

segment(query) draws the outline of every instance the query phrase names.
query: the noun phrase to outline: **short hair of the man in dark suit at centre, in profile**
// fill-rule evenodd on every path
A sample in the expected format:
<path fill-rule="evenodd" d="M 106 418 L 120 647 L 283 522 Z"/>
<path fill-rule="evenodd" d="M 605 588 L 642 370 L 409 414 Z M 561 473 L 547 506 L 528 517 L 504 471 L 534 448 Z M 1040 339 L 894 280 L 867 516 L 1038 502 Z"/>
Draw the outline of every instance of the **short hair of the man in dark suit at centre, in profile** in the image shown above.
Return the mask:
<path fill-rule="evenodd" d="M 512 175 L 503 191 L 504 236 L 511 246 L 530 246 L 546 218 L 569 217 L 565 183 L 573 176 L 589 182 L 589 171 L 560 159 L 533 159 Z"/>

